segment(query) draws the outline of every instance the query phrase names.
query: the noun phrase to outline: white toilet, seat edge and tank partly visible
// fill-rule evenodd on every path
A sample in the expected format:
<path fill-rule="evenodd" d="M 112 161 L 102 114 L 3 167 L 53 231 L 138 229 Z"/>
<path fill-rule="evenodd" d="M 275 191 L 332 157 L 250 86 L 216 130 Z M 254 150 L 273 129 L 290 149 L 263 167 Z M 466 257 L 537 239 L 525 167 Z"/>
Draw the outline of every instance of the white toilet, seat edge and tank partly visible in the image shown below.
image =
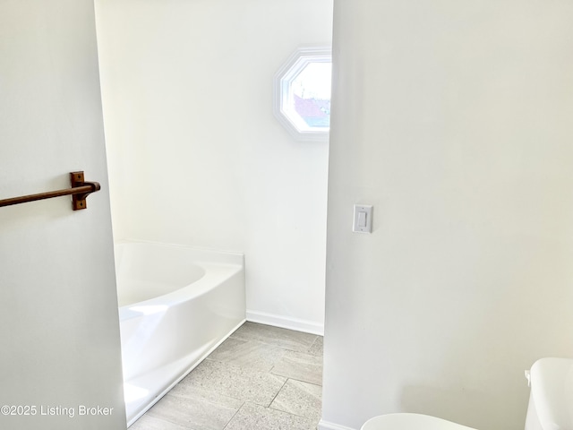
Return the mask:
<path fill-rule="evenodd" d="M 573 359 L 541 358 L 526 372 L 531 386 L 526 430 L 573 429 Z M 389 414 L 366 421 L 361 430 L 475 430 L 421 414 Z"/>

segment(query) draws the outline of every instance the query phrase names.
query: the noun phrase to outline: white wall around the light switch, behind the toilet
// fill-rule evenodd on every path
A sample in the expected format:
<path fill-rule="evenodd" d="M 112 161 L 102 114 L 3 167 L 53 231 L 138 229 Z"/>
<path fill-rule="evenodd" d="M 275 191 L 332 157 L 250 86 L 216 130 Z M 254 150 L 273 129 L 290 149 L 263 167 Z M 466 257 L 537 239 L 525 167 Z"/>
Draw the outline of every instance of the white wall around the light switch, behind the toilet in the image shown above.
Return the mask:
<path fill-rule="evenodd" d="M 322 429 L 524 426 L 573 357 L 573 4 L 337 0 Z M 372 235 L 352 206 L 374 205 Z"/>

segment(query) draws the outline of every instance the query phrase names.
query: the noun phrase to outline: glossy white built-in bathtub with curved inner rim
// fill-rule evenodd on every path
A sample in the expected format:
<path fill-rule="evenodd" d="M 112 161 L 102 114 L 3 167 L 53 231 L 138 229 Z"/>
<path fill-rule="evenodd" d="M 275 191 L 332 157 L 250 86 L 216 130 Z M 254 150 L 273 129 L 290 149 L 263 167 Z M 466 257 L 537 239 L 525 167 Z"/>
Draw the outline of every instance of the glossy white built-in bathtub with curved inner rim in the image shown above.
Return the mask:
<path fill-rule="evenodd" d="M 115 245 L 128 426 L 244 323 L 244 257 Z"/>

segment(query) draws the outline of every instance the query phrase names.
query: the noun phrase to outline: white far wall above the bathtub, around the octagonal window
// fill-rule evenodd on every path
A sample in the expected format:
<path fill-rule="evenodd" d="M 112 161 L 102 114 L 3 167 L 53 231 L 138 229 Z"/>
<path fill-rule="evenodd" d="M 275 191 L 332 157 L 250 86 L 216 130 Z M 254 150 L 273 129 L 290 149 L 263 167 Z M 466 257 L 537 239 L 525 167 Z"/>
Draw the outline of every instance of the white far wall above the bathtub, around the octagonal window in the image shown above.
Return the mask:
<path fill-rule="evenodd" d="M 243 252 L 249 318 L 322 331 L 328 143 L 282 128 L 272 84 L 329 46 L 332 0 L 96 8 L 116 239 Z"/>

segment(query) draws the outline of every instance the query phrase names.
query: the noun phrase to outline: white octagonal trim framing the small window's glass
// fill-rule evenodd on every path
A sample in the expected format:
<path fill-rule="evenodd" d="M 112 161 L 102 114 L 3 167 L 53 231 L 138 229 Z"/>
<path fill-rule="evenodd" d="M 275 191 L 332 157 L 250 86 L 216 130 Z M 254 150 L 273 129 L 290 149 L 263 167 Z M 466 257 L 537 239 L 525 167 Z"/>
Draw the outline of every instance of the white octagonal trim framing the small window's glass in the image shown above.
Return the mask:
<path fill-rule="evenodd" d="M 290 82 L 301 73 L 309 63 L 331 63 L 330 47 L 299 47 L 286 60 L 275 74 L 273 91 L 273 113 L 278 121 L 297 141 L 328 142 L 329 127 L 309 127 L 298 114 L 289 116 L 285 110 L 285 101 L 290 94 Z M 292 106 L 292 104 L 288 104 Z"/>

